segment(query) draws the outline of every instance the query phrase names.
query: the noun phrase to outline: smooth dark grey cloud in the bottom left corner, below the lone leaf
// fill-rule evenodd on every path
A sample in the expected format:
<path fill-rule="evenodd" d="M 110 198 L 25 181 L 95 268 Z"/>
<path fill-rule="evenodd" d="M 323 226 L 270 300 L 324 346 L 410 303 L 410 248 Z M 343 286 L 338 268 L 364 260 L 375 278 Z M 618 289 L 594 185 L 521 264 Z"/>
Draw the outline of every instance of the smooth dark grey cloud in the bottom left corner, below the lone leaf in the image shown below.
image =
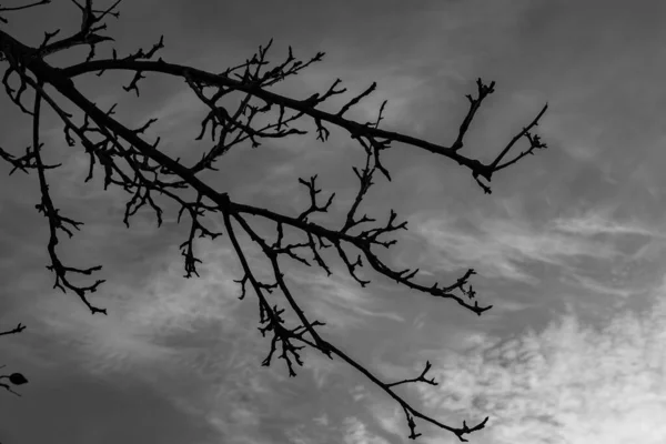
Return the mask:
<path fill-rule="evenodd" d="M 204 418 L 179 408 L 167 393 L 131 375 L 92 376 L 72 365 L 36 372 L 23 397 L 0 400 L 0 440 L 39 443 L 211 443 Z"/>

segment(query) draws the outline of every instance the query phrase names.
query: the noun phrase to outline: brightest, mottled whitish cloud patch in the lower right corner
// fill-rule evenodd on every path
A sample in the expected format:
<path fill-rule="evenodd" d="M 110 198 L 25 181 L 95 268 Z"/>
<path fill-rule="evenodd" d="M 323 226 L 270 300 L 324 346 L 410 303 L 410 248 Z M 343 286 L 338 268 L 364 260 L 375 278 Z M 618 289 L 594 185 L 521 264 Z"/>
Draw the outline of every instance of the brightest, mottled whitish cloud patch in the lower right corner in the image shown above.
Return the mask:
<path fill-rule="evenodd" d="M 599 329 L 566 315 L 541 333 L 480 339 L 447 356 L 436 389 L 415 386 L 431 412 L 491 415 L 488 444 L 666 442 L 666 299 Z M 448 413 L 443 413 L 448 412 Z"/>

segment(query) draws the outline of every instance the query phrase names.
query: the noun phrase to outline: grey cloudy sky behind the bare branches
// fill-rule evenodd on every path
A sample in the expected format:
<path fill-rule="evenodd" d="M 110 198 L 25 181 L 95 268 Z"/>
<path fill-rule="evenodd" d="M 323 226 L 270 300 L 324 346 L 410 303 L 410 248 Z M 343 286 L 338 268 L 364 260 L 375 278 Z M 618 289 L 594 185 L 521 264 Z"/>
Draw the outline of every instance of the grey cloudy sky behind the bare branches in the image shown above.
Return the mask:
<path fill-rule="evenodd" d="M 372 272 L 362 289 L 340 264 L 326 278 L 285 263 L 289 283 L 327 322 L 325 339 L 387 381 L 433 363 L 440 385 L 401 393 L 446 424 L 491 416 L 472 443 L 653 444 L 666 442 L 665 13 L 656 0 L 134 0 L 109 34 L 120 54 L 164 34 L 164 60 L 213 72 L 271 38 L 275 62 L 287 46 L 304 59 L 325 51 L 275 91 L 304 99 L 340 78 L 351 99 L 376 81 L 350 117 L 374 120 L 387 99 L 385 129 L 443 144 L 455 139 L 475 79 L 495 80 L 464 148 L 484 161 L 547 102 L 538 132 L 548 149 L 494 176 L 493 194 L 447 159 L 395 144 L 384 154 L 392 182 L 377 178 L 364 201 L 371 216 L 394 209 L 408 221 L 389 263 L 421 268 L 426 283 L 474 268 L 478 299 L 493 310 L 476 316 Z M 2 29 L 32 46 L 80 20 L 64 1 L 7 18 Z M 159 134 L 170 155 L 199 159 L 208 145 L 193 139 L 205 109 L 186 84 L 151 74 L 137 98 L 121 88 L 130 80 L 107 73 L 75 84 L 103 109 L 118 102 L 127 125 L 159 118 L 148 139 Z M 30 121 L 7 99 L 0 115 L 0 147 L 22 152 Z M 297 178 L 319 174 L 324 193 L 336 192 L 335 220 L 355 193 L 360 147 L 340 133 L 322 143 L 312 122 L 301 127 L 310 134 L 231 151 L 206 183 L 295 215 L 307 205 Z M 61 239 L 62 259 L 103 265 L 107 283 L 92 301 L 109 314 L 93 316 L 52 289 L 37 176 L 0 167 L 0 330 L 28 326 L 2 339 L 0 364 L 30 381 L 21 397 L 0 394 L 0 442 L 408 442 L 397 405 L 340 360 L 310 351 L 295 379 L 281 363 L 260 365 L 269 342 L 256 330 L 255 296 L 238 297 L 242 275 L 226 235 L 199 242 L 200 278 L 183 279 L 178 245 L 189 225 L 175 223 L 173 205 L 159 230 L 149 212 L 128 230 L 127 196 L 83 183 L 82 149 L 64 143 L 51 114 L 42 141 L 47 159 L 63 164 L 49 174 L 57 205 L 85 223 Z M 420 443 L 457 442 L 417 426 Z"/>

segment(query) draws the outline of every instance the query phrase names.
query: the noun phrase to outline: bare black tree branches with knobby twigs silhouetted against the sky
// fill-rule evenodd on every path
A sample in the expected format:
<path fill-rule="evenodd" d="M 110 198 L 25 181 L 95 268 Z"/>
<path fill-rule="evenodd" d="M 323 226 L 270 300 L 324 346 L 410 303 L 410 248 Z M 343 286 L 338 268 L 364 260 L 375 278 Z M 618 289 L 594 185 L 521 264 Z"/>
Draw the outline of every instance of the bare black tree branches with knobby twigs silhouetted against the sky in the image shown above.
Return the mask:
<path fill-rule="evenodd" d="M 161 224 L 163 211 L 155 200 L 158 194 L 178 203 L 180 206 L 179 222 L 185 218 L 190 222 L 188 238 L 180 245 L 184 256 L 186 278 L 198 275 L 196 264 L 201 262 L 196 258 L 194 238 L 215 239 L 222 235 L 222 233 L 210 231 L 204 225 L 202 222 L 204 215 L 220 214 L 222 216 L 229 242 L 231 242 L 243 269 L 243 275 L 236 281 L 241 289 L 240 297 L 245 296 L 248 286 L 253 290 L 260 310 L 259 330 L 263 336 L 270 336 L 270 351 L 263 365 L 270 365 L 273 357 L 276 357 L 284 362 L 290 376 L 295 376 L 294 366 L 303 364 L 300 351 L 309 345 L 330 359 L 343 360 L 398 403 L 404 411 L 411 438 L 421 435 L 416 433 L 416 418 L 446 430 L 461 441 L 467 441 L 465 438 L 467 434 L 483 428 L 488 421 L 487 417 L 472 426 L 465 422 L 462 426 L 446 425 L 421 413 L 395 392 L 396 386 L 407 383 L 436 385 L 437 383 L 433 379 L 426 379 L 426 373 L 431 369 L 430 362 L 417 377 L 385 382 L 343 350 L 322 337 L 317 327 L 324 323 L 320 320 L 312 320 L 300 307 L 283 278 L 281 260 L 289 258 L 306 266 L 316 265 L 330 275 L 331 269 L 324 254 L 324 250 L 330 250 L 340 258 L 350 275 L 362 286 L 369 284 L 369 281 L 360 278 L 359 270 L 370 266 L 398 285 L 430 294 L 433 297 L 452 300 L 463 309 L 481 315 L 492 305 L 482 306 L 476 301 L 476 293 L 470 283 L 471 278 L 475 274 L 474 270 L 467 270 L 452 284 L 443 284 L 416 280 L 417 269 L 392 269 L 377 256 L 377 250 L 389 249 L 395 244 L 396 240 L 390 238 L 398 230 L 406 230 L 406 222 L 398 222 L 397 214 L 393 210 L 385 222 L 379 222 L 367 214 L 360 215 L 360 206 L 377 176 L 391 180 L 390 172 L 382 164 L 382 153 L 389 150 L 394 142 L 426 150 L 437 157 L 457 162 L 462 168 L 470 170 L 485 193 L 491 193 L 490 182 L 496 172 L 511 167 L 527 154 L 533 154 L 535 150 L 546 148 L 546 144 L 534 133 L 534 129 L 547 105 L 544 105 L 534 120 L 517 132 L 492 161 L 484 163 L 464 154 L 464 139 L 482 103 L 494 92 L 494 82 L 486 83 L 481 79 L 476 81 L 477 91 L 475 94 L 467 95 L 470 109 L 460 125 L 455 140 L 451 145 L 442 145 L 380 128 L 386 101 L 382 103 L 379 115 L 373 122 L 356 122 L 346 119 L 345 113 L 370 95 L 375 90 L 375 83 L 353 97 L 337 112 L 326 112 L 319 107 L 327 99 L 346 92 L 346 89 L 340 88 L 340 79 L 335 80 L 331 88 L 323 93 L 305 99 L 289 98 L 271 91 L 272 85 L 296 75 L 311 64 L 321 61 L 324 57 L 323 52 L 302 61 L 292 54 L 290 48 L 283 62 L 271 65 L 266 61 L 271 41 L 266 47 L 260 47 L 251 59 L 240 65 L 229 68 L 224 72 L 206 72 L 193 67 L 171 63 L 161 58 L 154 60 L 158 51 L 164 47 L 163 38 L 161 38 L 148 51 L 139 49 L 134 53 L 122 56 L 113 50 L 111 58 L 100 58 L 95 53 L 98 46 L 113 41 L 113 38 L 104 34 L 107 29 L 104 21 L 111 17 L 119 18 L 120 0 L 104 9 L 95 9 L 92 0 L 71 0 L 71 2 L 81 13 L 81 27 L 60 40 L 57 40 L 60 37 L 60 30 L 44 32 L 41 44 L 30 47 L 0 29 L 0 59 L 7 64 L 2 78 L 7 97 L 21 112 L 31 115 L 32 119 L 32 140 L 26 153 L 17 155 L 0 149 L 0 155 L 13 167 L 11 173 L 16 170 L 21 170 L 23 173 L 29 173 L 31 170 L 37 172 L 41 191 L 41 202 L 37 205 L 37 210 L 47 218 L 50 229 L 47 246 L 50 258 L 48 269 L 54 275 L 54 287 L 77 294 L 91 313 L 107 314 L 105 309 L 93 305 L 88 299 L 88 295 L 95 292 L 104 282 L 103 280 L 98 279 L 83 286 L 72 281 L 72 276 L 92 275 L 102 266 L 68 265 L 58 255 L 58 234 L 64 232 L 72 238 L 73 232 L 80 229 L 82 222 L 62 214 L 50 195 L 44 171 L 59 165 L 44 164 L 42 161 L 43 143 L 40 142 L 42 107 L 51 108 L 59 115 L 63 123 L 67 143 L 70 147 L 82 145 L 89 155 L 90 168 L 87 181 L 91 180 L 97 172 L 103 174 L 104 189 L 119 186 L 129 194 L 123 219 L 128 226 L 130 218 L 142 208 L 152 209 L 158 224 Z M 50 0 L 41 0 L 22 7 L 0 8 L 0 20 L 7 22 L 4 16 L 9 12 L 27 10 L 46 3 L 50 3 Z M 89 48 L 84 61 L 67 67 L 53 67 L 47 62 L 49 56 L 74 47 Z M 75 81 L 79 77 L 89 73 L 109 75 L 110 71 L 133 72 L 133 79 L 123 89 L 134 92 L 137 95 L 140 94 L 140 82 L 147 74 L 171 75 L 185 81 L 192 93 L 196 94 L 210 110 L 201 122 L 201 133 L 196 138 L 196 140 L 202 140 L 206 133 L 210 133 L 212 140 L 210 150 L 203 152 L 201 160 L 193 164 L 184 164 L 180 159 L 172 159 L 159 150 L 159 139 L 149 142 L 143 135 L 144 131 L 155 122 L 155 119 L 149 120 L 140 128 L 128 128 L 113 118 L 115 105 L 105 111 L 101 110 L 77 88 Z M 16 82 L 18 82 L 18 89 L 11 85 L 16 85 Z M 27 99 L 26 91 L 33 93 L 31 100 Z M 58 98 L 53 94 L 54 91 L 60 94 Z M 228 110 L 229 105 L 221 104 L 222 99 L 232 94 L 241 95 L 240 104 L 233 111 Z M 65 111 L 65 105 L 81 112 L 82 119 L 75 119 L 73 114 Z M 256 123 L 258 117 L 262 117 L 264 120 L 268 118 L 269 123 Z M 313 213 L 326 212 L 334 199 L 333 194 L 323 201 L 319 199 L 321 190 L 316 185 L 316 175 L 307 180 L 299 179 L 310 195 L 310 206 L 300 214 L 283 214 L 254 206 L 251 203 L 238 202 L 226 192 L 215 190 L 200 179 L 201 172 L 215 170 L 215 162 L 241 143 L 249 142 L 252 147 L 259 147 L 262 139 L 306 134 L 305 130 L 295 125 L 301 121 L 313 122 L 316 139 L 322 142 L 327 140 L 329 129 L 337 127 L 349 133 L 365 150 L 364 164 L 353 167 L 359 180 L 359 190 L 342 226 L 327 226 L 314 223 L 309 219 Z M 514 148 L 522 140 L 527 142 L 526 148 L 515 153 Z M 189 195 L 194 193 L 195 198 L 186 198 L 185 191 L 189 192 Z M 276 235 L 273 240 L 260 235 L 253 228 L 251 221 L 258 219 L 274 224 Z M 297 234 L 301 241 L 286 243 L 285 232 Z M 246 234 L 249 236 L 246 242 L 254 243 L 261 249 L 266 263 L 272 268 L 272 279 L 274 279 L 272 282 L 256 278 L 252 264 L 248 260 L 248 246 L 243 245 L 239 233 Z M 306 259 L 306 256 L 309 258 Z M 269 302 L 266 294 L 274 290 L 280 290 L 284 295 L 285 306 L 272 305 Z M 299 325 L 290 325 L 283 319 L 285 310 L 292 311 L 297 316 Z M 12 376 L 9 377 L 12 381 Z M 17 379 L 17 381 L 19 380 Z"/>

